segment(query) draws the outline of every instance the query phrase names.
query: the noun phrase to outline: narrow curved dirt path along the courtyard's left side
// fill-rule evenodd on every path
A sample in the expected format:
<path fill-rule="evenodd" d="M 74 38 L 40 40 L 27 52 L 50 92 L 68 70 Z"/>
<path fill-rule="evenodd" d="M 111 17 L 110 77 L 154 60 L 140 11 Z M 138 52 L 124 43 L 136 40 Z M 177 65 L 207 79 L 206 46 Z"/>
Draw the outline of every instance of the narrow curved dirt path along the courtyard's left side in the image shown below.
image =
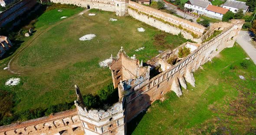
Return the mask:
<path fill-rule="evenodd" d="M 73 19 L 73 18 L 75 18 L 75 17 L 77 17 L 77 16 L 80 16 L 80 15 L 82 15 L 83 13 L 85 13 L 85 12 L 87 12 L 87 11 L 89 11 L 89 10 L 84 10 L 84 11 L 82 11 L 81 13 L 78 13 L 78 14 L 76 14 L 76 15 L 74 15 L 74 16 L 71 16 L 71 17 L 69 17 L 69 18 L 67 18 L 67 19 L 63 19 L 62 21 L 59 21 L 58 23 L 55 23 L 54 25 L 49 26 L 47 29 L 45 29 L 45 30 L 43 30 L 43 31 L 41 31 L 41 32 L 39 32 L 39 33 L 37 33 L 36 35 L 34 35 L 34 37 L 33 37 L 32 39 L 30 39 L 30 41 L 27 42 L 27 43 L 24 45 L 24 47 L 23 47 L 22 49 L 20 49 L 20 51 L 18 51 L 15 55 L 13 55 L 13 57 L 10 59 L 10 61 L 8 62 L 8 66 L 7 66 L 7 67 L 8 67 L 8 71 L 10 71 L 10 72 L 13 73 L 13 74 L 23 74 L 22 71 L 18 71 L 18 69 L 15 69 L 15 66 L 13 65 L 13 61 L 15 60 L 15 58 L 17 58 L 17 56 L 19 56 L 20 54 L 22 54 L 22 53 L 26 50 L 26 48 L 27 48 L 28 46 L 30 46 L 36 39 L 38 39 L 38 37 L 39 37 L 40 35 L 42 35 L 43 33 L 49 31 L 49 30 L 52 29 L 54 26 L 57 26 L 57 25 L 59 25 L 60 23 L 66 21 L 66 20 Z M 12 67 L 14 67 L 14 68 L 11 68 L 11 65 L 12 65 Z"/>

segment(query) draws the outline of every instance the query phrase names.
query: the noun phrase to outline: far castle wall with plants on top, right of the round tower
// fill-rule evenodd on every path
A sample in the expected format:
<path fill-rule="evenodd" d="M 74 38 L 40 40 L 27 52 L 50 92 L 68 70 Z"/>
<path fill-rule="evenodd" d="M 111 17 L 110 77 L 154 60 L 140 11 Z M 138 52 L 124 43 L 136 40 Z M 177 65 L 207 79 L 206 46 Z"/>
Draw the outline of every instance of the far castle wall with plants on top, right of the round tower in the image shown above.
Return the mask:
<path fill-rule="evenodd" d="M 174 35 L 178 35 L 181 32 L 185 39 L 191 39 L 192 41 L 199 43 L 202 42 L 199 37 L 203 35 L 205 27 L 197 23 L 191 23 L 188 20 L 181 19 L 177 16 L 155 10 L 133 1 L 129 1 L 128 14 L 141 22 L 165 32 Z M 191 32 L 194 34 L 191 34 Z M 197 37 L 195 35 L 197 35 Z"/>

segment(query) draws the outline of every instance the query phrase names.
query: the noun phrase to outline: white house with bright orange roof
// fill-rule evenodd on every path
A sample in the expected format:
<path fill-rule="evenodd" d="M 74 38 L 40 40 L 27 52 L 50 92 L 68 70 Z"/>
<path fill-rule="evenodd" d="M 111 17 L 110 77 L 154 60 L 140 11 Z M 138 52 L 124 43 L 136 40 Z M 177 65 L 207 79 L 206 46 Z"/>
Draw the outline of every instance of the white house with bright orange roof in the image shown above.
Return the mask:
<path fill-rule="evenodd" d="M 229 9 L 222 8 L 219 6 L 208 5 L 204 11 L 204 15 L 215 19 L 222 19 L 223 15 L 227 11 L 229 11 Z"/>

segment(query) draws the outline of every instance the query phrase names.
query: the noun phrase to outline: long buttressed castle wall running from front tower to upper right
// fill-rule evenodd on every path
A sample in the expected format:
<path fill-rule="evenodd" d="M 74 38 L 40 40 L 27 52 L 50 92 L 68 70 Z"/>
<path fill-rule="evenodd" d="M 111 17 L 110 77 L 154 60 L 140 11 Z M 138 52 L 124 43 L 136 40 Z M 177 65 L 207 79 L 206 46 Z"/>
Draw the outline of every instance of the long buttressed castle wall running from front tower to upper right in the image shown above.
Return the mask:
<path fill-rule="evenodd" d="M 205 42 L 167 71 L 151 78 L 147 83 L 141 82 L 132 86 L 131 89 L 126 90 L 127 121 L 130 121 L 139 113 L 146 110 L 155 100 L 161 99 L 165 93 L 174 90 L 174 88 L 175 90 L 180 90 L 178 84 L 180 81 L 185 79 L 194 86 L 193 72 L 224 48 L 233 46 L 236 35 L 238 35 L 242 26 L 243 22 L 233 20 L 233 24 L 229 28 L 209 42 Z"/>

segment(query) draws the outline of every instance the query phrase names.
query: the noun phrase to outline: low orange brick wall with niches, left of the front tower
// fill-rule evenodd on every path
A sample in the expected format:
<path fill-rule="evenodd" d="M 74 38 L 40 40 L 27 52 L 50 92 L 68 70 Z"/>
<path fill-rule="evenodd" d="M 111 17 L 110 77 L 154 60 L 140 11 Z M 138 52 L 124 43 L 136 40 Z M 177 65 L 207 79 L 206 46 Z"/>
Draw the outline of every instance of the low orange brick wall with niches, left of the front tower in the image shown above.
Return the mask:
<path fill-rule="evenodd" d="M 65 133 L 65 134 L 64 134 Z M 0 127 L 0 135 L 84 135 L 76 109 Z"/>

